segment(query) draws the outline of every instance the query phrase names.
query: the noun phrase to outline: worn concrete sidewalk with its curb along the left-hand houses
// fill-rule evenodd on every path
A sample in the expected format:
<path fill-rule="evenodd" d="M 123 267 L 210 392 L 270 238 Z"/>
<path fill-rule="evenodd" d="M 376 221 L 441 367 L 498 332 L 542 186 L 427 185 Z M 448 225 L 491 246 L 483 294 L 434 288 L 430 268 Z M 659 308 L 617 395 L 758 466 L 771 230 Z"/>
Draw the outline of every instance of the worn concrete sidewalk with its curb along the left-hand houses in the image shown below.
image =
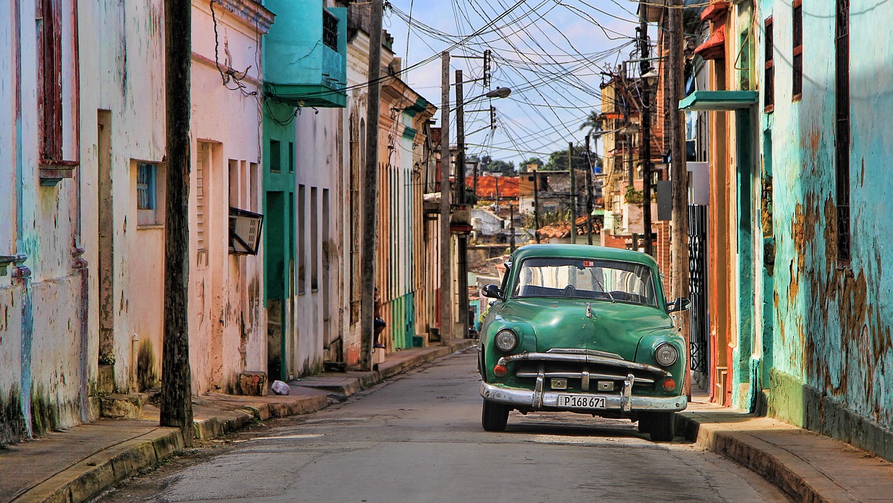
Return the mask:
<path fill-rule="evenodd" d="M 322 373 L 290 381 L 288 395 L 194 398 L 196 438 L 212 439 L 255 420 L 306 414 L 425 362 L 468 348 L 474 340 L 450 347 L 412 348 L 388 355 L 377 372 Z M 158 426 L 159 411 L 143 408 L 139 419 L 100 419 L 65 432 L 0 450 L 0 502 L 86 501 L 139 469 L 183 449 L 179 429 Z"/>

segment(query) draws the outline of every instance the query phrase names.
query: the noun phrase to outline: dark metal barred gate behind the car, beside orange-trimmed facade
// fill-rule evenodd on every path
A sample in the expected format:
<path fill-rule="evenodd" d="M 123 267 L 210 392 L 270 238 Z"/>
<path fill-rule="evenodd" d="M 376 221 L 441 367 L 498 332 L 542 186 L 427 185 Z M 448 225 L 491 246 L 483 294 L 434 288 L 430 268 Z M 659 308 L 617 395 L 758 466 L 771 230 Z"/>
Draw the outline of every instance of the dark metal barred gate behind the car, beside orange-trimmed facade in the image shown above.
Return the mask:
<path fill-rule="evenodd" d="M 689 337 L 691 370 L 707 373 L 707 206 L 689 205 Z"/>

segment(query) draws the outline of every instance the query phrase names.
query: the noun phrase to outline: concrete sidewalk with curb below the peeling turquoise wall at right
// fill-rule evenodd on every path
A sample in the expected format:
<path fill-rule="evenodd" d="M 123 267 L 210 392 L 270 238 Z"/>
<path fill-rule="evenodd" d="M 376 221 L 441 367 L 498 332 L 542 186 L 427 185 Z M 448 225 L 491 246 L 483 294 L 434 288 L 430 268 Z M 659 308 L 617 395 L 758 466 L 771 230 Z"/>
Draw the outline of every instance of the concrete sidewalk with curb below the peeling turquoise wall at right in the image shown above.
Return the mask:
<path fill-rule="evenodd" d="M 893 501 L 893 464 L 861 449 L 771 417 L 694 397 L 676 433 L 747 466 L 794 501 Z"/>

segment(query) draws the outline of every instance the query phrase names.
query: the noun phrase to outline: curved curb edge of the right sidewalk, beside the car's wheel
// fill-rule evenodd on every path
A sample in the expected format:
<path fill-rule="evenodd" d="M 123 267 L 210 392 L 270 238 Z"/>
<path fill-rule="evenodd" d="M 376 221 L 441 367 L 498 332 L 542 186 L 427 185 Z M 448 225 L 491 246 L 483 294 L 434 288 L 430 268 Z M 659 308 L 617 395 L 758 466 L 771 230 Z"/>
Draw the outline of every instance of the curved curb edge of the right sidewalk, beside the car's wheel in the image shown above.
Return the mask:
<path fill-rule="evenodd" d="M 685 413 L 676 415 L 675 432 L 677 435 L 696 442 L 705 449 L 723 457 L 728 457 L 739 465 L 745 466 L 755 474 L 764 477 L 780 490 L 783 490 L 795 501 L 802 503 L 830 503 L 831 501 L 852 500 L 839 487 L 822 488 L 820 491 L 810 482 L 809 475 L 821 475 L 813 466 L 780 449 L 769 442 L 760 440 L 747 432 L 730 432 L 722 425 L 699 423 L 697 419 Z M 822 480 L 822 477 L 809 477 Z M 839 498 L 826 498 L 822 492 L 838 492 Z"/>

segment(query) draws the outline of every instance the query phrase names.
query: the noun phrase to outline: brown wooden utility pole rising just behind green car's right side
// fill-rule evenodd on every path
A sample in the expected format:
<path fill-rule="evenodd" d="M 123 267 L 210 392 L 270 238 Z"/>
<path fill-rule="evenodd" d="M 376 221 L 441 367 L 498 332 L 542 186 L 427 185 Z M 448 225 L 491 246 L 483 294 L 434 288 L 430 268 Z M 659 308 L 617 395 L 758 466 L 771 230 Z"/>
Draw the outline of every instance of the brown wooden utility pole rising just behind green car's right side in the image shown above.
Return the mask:
<path fill-rule="evenodd" d="M 670 138 L 672 145 L 672 291 L 675 298 L 689 297 L 689 189 L 686 169 L 685 129 L 679 102 L 682 99 L 682 73 L 685 58 L 682 47 L 685 45 L 685 32 L 682 23 L 682 0 L 670 3 L 670 59 L 667 69 L 670 72 Z M 685 339 L 685 347 L 690 348 L 688 311 L 679 311 L 680 329 Z M 690 351 L 689 351 L 690 353 Z M 685 359 L 685 384 L 683 390 L 691 396 L 691 362 Z"/>

